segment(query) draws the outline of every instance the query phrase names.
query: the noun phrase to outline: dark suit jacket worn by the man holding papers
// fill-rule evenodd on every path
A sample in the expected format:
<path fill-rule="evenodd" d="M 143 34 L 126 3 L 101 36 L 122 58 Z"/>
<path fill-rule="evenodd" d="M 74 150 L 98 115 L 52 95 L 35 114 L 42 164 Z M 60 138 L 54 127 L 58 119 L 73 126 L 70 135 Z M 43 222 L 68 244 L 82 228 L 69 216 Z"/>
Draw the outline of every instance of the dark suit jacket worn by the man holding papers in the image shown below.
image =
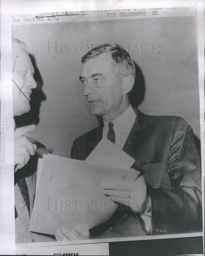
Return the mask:
<path fill-rule="evenodd" d="M 201 232 L 200 158 L 191 126 L 180 117 L 149 116 L 136 111 L 135 124 L 123 150 L 136 160 L 132 168 L 140 167 L 147 184 L 152 200 L 151 234 Z M 100 125 L 76 138 L 71 158 L 85 160 L 102 139 L 102 130 Z M 98 231 L 94 229 L 94 236 L 123 222 L 119 220 L 125 214 L 127 211 L 116 211 Z M 125 229 L 129 227 L 124 226 Z"/>

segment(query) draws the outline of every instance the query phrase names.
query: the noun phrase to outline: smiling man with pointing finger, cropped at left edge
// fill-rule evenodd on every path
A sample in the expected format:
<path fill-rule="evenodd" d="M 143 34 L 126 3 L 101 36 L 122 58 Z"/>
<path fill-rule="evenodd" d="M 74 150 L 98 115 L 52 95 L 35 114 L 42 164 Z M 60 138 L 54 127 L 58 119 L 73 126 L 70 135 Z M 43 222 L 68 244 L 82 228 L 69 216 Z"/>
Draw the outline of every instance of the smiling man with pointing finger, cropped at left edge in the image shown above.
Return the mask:
<path fill-rule="evenodd" d="M 12 39 L 13 62 L 13 115 L 20 116 L 30 110 L 30 95 L 37 83 L 33 78 L 34 68 L 26 51 L 24 42 Z M 15 191 L 15 237 L 16 243 L 60 241 L 64 237 L 59 227 L 56 236 L 30 232 L 29 222 L 36 189 L 36 170 L 38 158 L 48 154 L 48 149 L 40 142 L 27 137 L 35 125 L 15 128 L 14 121 L 14 191 Z M 66 239 L 85 239 L 89 232 L 76 227 L 66 229 Z M 60 235 L 58 236 L 58 233 Z"/>

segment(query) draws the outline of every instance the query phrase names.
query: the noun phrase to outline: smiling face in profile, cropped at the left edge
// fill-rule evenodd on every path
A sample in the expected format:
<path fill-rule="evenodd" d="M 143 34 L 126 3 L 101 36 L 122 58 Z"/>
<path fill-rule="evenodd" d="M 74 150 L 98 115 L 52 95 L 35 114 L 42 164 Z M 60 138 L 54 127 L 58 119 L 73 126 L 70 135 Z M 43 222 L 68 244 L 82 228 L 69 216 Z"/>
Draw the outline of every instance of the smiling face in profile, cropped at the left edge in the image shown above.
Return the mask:
<path fill-rule="evenodd" d="M 31 89 L 36 88 L 37 83 L 33 79 L 34 68 L 28 53 L 16 44 L 14 44 L 14 49 L 12 50 L 12 66 L 14 68 L 12 78 L 28 98 L 24 96 L 13 81 L 13 114 L 16 116 L 27 113 L 30 110 Z"/>

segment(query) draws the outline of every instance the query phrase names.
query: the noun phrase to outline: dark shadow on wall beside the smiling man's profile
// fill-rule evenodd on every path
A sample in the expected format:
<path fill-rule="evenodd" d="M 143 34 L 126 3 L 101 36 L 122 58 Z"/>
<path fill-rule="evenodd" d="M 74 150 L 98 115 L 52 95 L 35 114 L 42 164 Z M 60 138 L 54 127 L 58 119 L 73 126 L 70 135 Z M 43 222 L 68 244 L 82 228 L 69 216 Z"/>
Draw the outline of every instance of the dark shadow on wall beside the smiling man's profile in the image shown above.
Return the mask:
<path fill-rule="evenodd" d="M 35 58 L 30 54 L 29 54 L 29 57 L 31 59 L 31 62 L 33 64 L 33 68 L 35 71 L 34 79 L 37 82 L 37 87 L 32 89 L 30 111 L 21 116 L 15 116 L 14 118 L 17 128 L 25 125 L 30 125 L 30 124 L 38 124 L 41 101 L 46 99 L 46 96 L 42 91 L 43 81 L 42 81 L 40 72 L 36 66 Z"/>

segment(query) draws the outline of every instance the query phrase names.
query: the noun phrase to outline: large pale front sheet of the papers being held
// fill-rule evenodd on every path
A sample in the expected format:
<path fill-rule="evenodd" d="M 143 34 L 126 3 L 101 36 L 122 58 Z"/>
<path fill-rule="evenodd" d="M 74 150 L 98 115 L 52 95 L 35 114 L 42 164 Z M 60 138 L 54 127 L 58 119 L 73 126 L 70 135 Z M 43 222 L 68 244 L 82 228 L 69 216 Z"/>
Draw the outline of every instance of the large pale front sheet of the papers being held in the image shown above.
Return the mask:
<path fill-rule="evenodd" d="M 139 174 L 53 155 L 43 155 L 42 161 L 29 230 L 47 234 L 55 234 L 60 225 L 90 229 L 107 221 L 118 205 L 101 193 L 100 184 L 134 181 Z"/>

